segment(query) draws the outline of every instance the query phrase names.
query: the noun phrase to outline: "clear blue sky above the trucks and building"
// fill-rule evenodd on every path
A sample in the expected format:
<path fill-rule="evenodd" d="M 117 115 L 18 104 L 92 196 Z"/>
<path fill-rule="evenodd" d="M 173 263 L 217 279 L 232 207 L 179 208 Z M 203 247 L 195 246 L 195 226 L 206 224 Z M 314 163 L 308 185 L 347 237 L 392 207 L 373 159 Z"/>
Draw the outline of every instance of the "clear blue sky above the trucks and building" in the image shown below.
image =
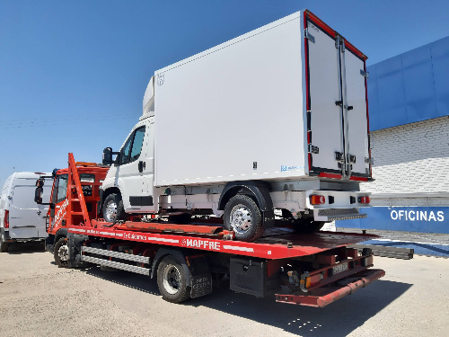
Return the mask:
<path fill-rule="evenodd" d="M 154 71 L 308 8 L 368 65 L 449 35 L 449 2 L 0 2 L 0 186 L 13 172 L 100 162 L 142 113 Z"/>

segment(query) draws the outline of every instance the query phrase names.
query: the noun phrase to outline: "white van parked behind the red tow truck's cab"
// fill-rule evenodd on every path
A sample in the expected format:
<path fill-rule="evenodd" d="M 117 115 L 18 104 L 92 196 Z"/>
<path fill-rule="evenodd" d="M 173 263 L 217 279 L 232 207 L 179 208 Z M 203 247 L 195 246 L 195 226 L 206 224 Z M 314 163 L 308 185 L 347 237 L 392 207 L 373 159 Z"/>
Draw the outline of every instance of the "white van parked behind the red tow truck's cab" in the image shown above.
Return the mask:
<path fill-rule="evenodd" d="M 8 251 L 8 244 L 43 240 L 47 236 L 48 206 L 34 201 L 36 180 L 50 173 L 20 172 L 11 174 L 0 197 L 0 252 Z M 42 200 L 49 200 L 51 183 L 44 185 Z"/>

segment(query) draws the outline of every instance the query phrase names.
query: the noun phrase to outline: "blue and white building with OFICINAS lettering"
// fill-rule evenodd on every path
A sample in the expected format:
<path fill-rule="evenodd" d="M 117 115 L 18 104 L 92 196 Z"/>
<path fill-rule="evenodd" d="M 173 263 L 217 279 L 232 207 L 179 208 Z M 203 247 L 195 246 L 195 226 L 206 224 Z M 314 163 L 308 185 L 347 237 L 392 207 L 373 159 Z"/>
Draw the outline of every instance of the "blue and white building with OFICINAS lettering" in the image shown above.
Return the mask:
<path fill-rule="evenodd" d="M 449 37 L 368 71 L 374 207 L 336 226 L 449 233 Z"/>

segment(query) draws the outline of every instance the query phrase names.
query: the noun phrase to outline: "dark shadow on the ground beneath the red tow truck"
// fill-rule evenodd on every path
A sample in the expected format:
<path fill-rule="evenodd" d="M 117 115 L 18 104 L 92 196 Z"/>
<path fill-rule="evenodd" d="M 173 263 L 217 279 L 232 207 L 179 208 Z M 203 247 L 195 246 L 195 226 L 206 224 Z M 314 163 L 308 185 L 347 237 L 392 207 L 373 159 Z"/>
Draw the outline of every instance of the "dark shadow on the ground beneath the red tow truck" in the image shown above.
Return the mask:
<path fill-rule="evenodd" d="M 99 267 L 86 270 L 87 274 L 110 282 L 160 296 L 155 279 L 127 271 L 104 271 Z M 276 303 L 274 297 L 252 297 L 237 294 L 223 281 L 206 297 L 190 299 L 178 306 L 206 306 L 230 315 L 236 315 L 260 324 L 269 324 L 287 333 L 302 336 L 346 336 L 368 319 L 401 297 L 412 285 L 390 280 L 376 280 L 367 288 L 339 299 L 324 308 L 293 306 Z"/>

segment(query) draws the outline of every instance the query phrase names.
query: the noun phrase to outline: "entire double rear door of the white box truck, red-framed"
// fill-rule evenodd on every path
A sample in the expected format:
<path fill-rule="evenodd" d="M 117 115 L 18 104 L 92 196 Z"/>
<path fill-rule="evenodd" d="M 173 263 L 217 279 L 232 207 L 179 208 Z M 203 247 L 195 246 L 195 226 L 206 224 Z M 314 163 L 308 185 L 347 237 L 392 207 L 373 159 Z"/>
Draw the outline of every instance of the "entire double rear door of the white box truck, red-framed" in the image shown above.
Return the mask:
<path fill-rule="evenodd" d="M 304 22 L 310 172 L 367 180 L 366 57 L 312 13 Z"/>

